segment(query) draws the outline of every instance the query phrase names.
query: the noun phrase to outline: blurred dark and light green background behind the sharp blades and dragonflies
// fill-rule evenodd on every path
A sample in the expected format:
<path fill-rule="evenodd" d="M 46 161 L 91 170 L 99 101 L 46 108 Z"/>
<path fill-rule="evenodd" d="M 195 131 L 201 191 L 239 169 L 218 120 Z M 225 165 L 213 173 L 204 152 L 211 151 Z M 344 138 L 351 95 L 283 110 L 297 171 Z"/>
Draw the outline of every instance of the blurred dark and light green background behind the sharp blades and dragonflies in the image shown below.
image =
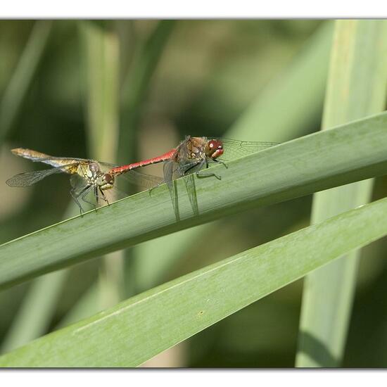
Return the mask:
<path fill-rule="evenodd" d="M 77 213 L 66 176 L 26 189 L 6 186 L 15 173 L 44 168 L 16 158 L 11 148 L 124 163 L 157 156 L 186 134 L 300 137 L 321 124 L 330 44 L 329 22 L 321 20 L 0 21 L 0 242 Z M 267 118 L 272 111 L 275 117 Z M 162 167 L 146 172 L 161 175 Z M 377 179 L 374 199 L 386 194 L 387 179 Z M 38 279 L 2 291 L 3 350 L 23 343 L 12 338 L 20 331 L 30 340 L 305 227 L 311 201 L 227 217 L 143 243 L 121 254 L 125 262 L 112 254 L 51 276 L 49 284 Z M 386 249 L 383 239 L 362 252 L 367 260 L 361 261 L 344 367 L 387 362 Z M 118 262 L 124 262 L 123 278 Z M 293 367 L 301 293 L 297 281 L 145 365 Z M 50 299 L 43 312 L 35 309 L 44 305 L 42 297 Z"/>

